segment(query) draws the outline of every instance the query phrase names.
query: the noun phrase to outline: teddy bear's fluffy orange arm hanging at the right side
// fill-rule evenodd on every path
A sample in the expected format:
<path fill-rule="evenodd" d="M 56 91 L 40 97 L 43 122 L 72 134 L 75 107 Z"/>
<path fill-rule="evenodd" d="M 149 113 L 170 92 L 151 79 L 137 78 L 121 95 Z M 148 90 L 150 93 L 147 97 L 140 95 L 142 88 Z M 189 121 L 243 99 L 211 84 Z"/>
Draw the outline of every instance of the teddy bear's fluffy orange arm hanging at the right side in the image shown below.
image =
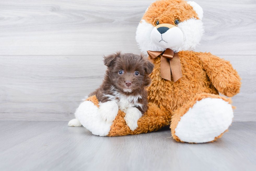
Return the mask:
<path fill-rule="evenodd" d="M 210 81 L 221 94 L 232 97 L 239 93 L 242 84 L 241 78 L 229 61 L 210 53 L 203 53 L 198 56 Z"/>

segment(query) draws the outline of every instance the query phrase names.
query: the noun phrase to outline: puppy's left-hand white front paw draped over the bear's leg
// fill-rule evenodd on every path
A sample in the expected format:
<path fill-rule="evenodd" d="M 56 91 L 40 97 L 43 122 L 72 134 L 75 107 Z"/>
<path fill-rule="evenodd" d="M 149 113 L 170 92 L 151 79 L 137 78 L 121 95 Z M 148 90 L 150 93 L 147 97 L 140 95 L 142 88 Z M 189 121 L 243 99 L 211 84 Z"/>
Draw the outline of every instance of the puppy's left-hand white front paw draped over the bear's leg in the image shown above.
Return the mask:
<path fill-rule="evenodd" d="M 118 104 L 115 101 L 107 101 L 99 104 L 101 118 L 107 122 L 113 122 L 118 113 Z"/>

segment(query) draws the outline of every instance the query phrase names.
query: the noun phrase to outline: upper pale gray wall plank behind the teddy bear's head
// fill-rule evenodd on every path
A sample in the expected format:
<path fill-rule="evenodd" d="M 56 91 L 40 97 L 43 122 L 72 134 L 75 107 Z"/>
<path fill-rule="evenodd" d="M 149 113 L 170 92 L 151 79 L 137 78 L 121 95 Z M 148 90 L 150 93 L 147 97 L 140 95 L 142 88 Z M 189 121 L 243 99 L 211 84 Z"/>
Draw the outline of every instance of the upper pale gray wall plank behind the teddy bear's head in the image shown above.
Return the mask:
<path fill-rule="evenodd" d="M 154 0 L 1 0 L 1 55 L 140 53 L 136 28 Z M 197 51 L 256 55 L 254 1 L 197 0 L 205 34 Z"/>

